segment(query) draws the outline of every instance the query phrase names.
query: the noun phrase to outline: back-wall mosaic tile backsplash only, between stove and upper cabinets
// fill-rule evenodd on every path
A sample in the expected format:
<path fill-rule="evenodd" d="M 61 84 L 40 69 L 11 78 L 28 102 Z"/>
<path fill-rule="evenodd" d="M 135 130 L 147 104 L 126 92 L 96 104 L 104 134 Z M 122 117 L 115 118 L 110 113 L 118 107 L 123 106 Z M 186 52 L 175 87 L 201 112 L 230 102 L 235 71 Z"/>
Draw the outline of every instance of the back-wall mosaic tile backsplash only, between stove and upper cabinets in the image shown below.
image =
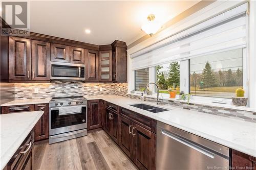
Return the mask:
<path fill-rule="evenodd" d="M 102 91 L 100 90 L 102 88 Z M 118 89 L 120 88 L 120 92 Z M 117 93 L 116 93 L 117 92 Z M 107 95 L 127 93 L 127 84 L 54 81 L 51 83 L 15 83 L 15 100 L 44 99 L 70 95 Z"/>

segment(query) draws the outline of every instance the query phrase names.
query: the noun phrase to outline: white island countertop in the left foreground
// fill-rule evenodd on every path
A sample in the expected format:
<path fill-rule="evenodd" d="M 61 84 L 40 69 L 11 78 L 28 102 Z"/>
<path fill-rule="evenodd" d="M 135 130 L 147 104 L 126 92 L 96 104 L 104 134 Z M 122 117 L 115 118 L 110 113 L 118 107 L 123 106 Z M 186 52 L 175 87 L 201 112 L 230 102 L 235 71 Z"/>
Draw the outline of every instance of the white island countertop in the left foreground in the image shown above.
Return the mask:
<path fill-rule="evenodd" d="M 43 113 L 43 111 L 33 111 L 0 115 L 1 169 L 6 166 Z"/>

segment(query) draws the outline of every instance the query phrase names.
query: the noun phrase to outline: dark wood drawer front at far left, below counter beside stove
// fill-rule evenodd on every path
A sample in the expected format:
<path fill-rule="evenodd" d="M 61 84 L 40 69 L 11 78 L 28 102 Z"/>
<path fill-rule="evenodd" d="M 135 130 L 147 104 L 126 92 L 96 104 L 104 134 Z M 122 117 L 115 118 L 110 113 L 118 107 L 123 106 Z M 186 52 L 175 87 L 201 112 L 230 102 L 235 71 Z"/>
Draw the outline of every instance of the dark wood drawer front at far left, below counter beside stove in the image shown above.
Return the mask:
<path fill-rule="evenodd" d="M 18 106 L 4 106 L 2 107 L 2 114 L 24 112 L 24 111 L 34 111 L 34 105 L 18 105 Z"/>

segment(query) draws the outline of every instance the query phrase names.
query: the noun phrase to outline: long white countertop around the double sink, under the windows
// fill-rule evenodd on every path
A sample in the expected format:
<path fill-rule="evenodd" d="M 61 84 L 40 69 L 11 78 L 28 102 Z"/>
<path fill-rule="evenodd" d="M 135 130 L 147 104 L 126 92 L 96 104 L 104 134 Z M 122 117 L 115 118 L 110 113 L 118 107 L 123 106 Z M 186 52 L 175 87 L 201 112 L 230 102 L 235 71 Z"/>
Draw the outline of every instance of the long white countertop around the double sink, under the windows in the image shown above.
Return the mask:
<path fill-rule="evenodd" d="M 102 99 L 123 108 L 135 111 L 145 116 L 154 118 L 165 124 L 174 126 L 184 131 L 201 136 L 216 143 L 225 145 L 245 154 L 256 157 L 256 124 L 229 117 L 220 117 L 207 113 L 158 105 L 170 109 L 168 111 L 152 113 L 130 104 L 141 103 L 139 100 L 124 98 L 116 95 L 84 96 L 88 100 Z M 154 103 L 143 102 L 148 105 Z"/>

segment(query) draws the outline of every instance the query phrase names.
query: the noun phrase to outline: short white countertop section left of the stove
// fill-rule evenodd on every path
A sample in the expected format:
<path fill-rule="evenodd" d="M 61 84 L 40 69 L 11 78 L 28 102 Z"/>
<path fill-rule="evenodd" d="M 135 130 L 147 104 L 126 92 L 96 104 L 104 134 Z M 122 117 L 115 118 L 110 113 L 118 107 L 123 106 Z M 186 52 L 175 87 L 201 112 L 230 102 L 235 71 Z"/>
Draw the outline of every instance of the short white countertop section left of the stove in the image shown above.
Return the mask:
<path fill-rule="evenodd" d="M 49 103 L 51 98 L 46 99 L 24 99 L 24 100 L 14 100 L 2 104 L 1 106 L 16 106 L 16 105 L 30 105 L 30 104 L 40 104 L 40 103 Z"/>

